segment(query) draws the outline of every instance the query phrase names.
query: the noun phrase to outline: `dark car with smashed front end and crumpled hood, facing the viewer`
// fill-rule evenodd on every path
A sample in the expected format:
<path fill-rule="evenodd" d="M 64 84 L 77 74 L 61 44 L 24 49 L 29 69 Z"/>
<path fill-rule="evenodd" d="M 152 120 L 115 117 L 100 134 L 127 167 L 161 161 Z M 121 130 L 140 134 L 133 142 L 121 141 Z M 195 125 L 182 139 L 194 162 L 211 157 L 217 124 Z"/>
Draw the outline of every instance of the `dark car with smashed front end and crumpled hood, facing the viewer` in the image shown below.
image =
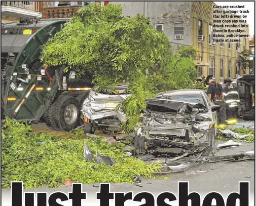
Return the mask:
<path fill-rule="evenodd" d="M 177 156 L 186 152 L 214 152 L 216 111 L 203 90 L 179 90 L 147 99 L 147 108 L 134 129 L 137 154 Z"/>

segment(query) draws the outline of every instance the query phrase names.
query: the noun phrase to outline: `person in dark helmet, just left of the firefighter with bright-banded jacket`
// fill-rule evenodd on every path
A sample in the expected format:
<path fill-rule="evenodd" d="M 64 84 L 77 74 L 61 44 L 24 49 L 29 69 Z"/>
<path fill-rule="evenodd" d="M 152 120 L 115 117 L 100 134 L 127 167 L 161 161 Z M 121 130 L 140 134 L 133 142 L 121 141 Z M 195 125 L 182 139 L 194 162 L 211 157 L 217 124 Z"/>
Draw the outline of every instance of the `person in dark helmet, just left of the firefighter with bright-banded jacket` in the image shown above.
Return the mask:
<path fill-rule="evenodd" d="M 226 111 L 223 104 L 223 90 L 220 83 L 216 83 L 212 76 L 209 75 L 206 78 L 206 83 L 209 84 L 207 89 L 207 96 L 208 98 L 215 104 L 220 106 L 220 110 L 217 111 L 217 119 L 218 119 L 218 128 L 225 129 L 226 127 Z"/>

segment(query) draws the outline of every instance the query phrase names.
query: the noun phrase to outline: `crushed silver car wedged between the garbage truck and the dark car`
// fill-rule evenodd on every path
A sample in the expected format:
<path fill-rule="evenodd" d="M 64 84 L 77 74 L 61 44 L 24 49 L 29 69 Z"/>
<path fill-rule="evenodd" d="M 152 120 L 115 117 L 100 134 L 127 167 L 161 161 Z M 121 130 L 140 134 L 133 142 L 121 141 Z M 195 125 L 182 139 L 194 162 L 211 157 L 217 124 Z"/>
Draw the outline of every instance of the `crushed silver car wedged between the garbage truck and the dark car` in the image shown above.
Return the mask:
<path fill-rule="evenodd" d="M 92 89 L 81 110 L 84 115 L 84 132 L 94 133 L 96 129 L 121 130 L 120 122 L 126 118 L 124 112 L 116 108 L 130 96 L 127 90 L 128 84 L 120 84 L 115 88 L 109 86 L 104 91 Z"/>

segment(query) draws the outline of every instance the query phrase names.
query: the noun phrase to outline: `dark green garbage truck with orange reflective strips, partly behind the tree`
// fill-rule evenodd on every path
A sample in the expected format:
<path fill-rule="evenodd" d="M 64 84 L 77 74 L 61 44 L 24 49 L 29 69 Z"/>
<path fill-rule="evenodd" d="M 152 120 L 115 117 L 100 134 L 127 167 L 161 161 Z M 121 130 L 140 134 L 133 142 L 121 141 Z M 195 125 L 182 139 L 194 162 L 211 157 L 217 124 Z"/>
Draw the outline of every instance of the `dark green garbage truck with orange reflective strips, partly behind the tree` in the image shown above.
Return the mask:
<path fill-rule="evenodd" d="M 77 78 L 66 65 L 44 65 L 42 47 L 67 19 L 21 18 L 1 25 L 1 118 L 45 122 L 56 131 L 82 123 L 81 105 L 93 87 L 90 74 Z"/>

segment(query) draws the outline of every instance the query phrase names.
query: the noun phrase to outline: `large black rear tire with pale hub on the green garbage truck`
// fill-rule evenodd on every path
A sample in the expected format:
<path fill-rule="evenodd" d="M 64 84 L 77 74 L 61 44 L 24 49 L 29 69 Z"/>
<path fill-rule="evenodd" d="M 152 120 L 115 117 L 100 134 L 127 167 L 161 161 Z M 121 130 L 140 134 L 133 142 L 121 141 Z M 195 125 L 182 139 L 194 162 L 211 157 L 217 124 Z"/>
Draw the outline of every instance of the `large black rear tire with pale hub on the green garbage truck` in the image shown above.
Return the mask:
<path fill-rule="evenodd" d="M 70 131 L 77 127 L 80 118 L 80 104 L 75 97 L 59 96 L 52 107 L 54 123 L 60 131 Z"/>

